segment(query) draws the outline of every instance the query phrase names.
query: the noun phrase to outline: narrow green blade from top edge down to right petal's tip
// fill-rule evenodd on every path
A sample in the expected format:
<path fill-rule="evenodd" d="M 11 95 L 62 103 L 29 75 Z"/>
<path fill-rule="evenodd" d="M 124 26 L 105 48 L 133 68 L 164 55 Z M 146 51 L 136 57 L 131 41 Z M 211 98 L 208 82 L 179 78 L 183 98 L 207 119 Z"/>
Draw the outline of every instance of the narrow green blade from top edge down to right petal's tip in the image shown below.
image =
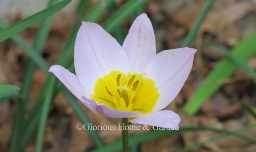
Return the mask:
<path fill-rule="evenodd" d="M 201 27 L 201 24 L 203 20 L 205 20 L 206 15 L 211 9 L 211 6 L 213 6 L 214 0 L 207 0 L 205 6 L 203 7 L 203 10 L 201 14 L 198 16 L 197 20 L 195 21 L 195 24 L 193 28 L 189 31 L 189 34 L 187 34 L 184 42 L 182 43 L 181 47 L 188 47 L 190 46 L 191 42 L 193 42 L 195 35 L 197 35 L 197 32 L 199 28 Z"/>

